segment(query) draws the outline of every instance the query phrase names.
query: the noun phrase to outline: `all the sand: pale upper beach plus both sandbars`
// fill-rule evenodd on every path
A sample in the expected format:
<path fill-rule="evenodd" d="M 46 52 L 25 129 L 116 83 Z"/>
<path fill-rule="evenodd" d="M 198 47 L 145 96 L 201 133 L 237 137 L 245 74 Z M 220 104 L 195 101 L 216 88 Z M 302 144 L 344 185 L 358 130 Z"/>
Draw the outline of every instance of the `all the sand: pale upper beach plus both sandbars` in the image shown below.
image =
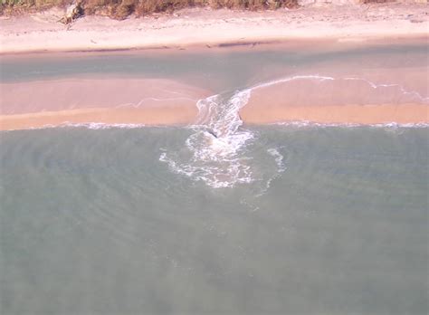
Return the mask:
<path fill-rule="evenodd" d="M 49 52 L 64 53 L 65 57 L 67 53 L 84 56 L 110 50 L 138 53 L 133 52 L 136 49 L 166 55 L 175 51 L 230 52 L 253 47 L 256 51 L 279 44 L 294 49 L 318 45 L 320 50 L 329 51 L 391 42 L 427 43 L 429 29 L 428 5 L 418 4 L 313 6 L 274 12 L 186 9 L 173 15 L 131 17 L 125 21 L 86 16 L 69 26 L 57 22 L 61 14 L 52 9 L 31 16 L 2 18 L 1 58 L 31 59 Z M 321 70 L 330 71 L 329 67 Z M 406 77 L 401 75 L 404 71 Z M 371 99 L 376 90 L 380 91 L 372 81 L 336 81 L 337 85 L 319 89 L 325 91 L 321 93 L 314 92 L 314 82 L 297 81 L 255 89 L 240 111 L 241 118 L 251 124 L 297 120 L 429 123 L 427 67 L 399 65 L 396 69 L 368 68 L 362 72 L 374 82 L 398 78 L 399 83 L 386 90 L 394 101 L 377 95 Z M 417 98 L 398 94 L 410 94 L 412 90 Z M 193 124 L 198 113 L 196 102 L 215 93 L 180 78 L 116 77 L 2 82 L 0 91 L 0 129 L 91 122 Z"/>

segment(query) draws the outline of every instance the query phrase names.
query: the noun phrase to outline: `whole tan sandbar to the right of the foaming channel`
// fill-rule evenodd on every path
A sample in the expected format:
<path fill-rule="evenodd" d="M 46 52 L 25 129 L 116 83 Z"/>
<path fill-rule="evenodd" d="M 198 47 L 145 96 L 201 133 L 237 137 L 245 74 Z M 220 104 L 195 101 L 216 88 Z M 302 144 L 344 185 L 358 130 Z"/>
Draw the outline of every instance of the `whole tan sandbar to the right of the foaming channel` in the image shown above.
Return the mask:
<path fill-rule="evenodd" d="M 406 73 L 406 75 L 404 75 Z M 256 88 L 240 111 L 243 121 L 261 124 L 310 121 L 325 124 L 415 124 L 429 122 L 427 69 L 378 70 L 366 76 L 296 80 Z M 390 76 L 390 79 L 389 79 Z M 395 78 L 395 84 L 382 84 Z M 416 90 L 406 86 L 414 86 Z M 419 88 L 416 88 L 419 87 Z"/>

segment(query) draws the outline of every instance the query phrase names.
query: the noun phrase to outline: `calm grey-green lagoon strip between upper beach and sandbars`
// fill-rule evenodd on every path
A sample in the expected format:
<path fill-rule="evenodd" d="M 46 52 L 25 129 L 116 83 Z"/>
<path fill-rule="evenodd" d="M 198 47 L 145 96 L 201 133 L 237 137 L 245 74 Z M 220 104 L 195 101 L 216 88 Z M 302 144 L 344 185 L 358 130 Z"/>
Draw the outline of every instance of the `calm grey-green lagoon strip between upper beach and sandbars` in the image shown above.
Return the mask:
<path fill-rule="evenodd" d="M 427 43 L 393 43 L 327 50 L 318 45 L 245 50 L 50 53 L 0 57 L 3 82 L 82 75 L 126 75 L 185 80 L 215 92 L 231 91 L 291 74 L 428 67 Z M 329 73 L 328 73 L 329 74 Z M 394 78 L 392 78 L 394 79 Z M 425 89 L 427 91 L 427 87 Z"/>

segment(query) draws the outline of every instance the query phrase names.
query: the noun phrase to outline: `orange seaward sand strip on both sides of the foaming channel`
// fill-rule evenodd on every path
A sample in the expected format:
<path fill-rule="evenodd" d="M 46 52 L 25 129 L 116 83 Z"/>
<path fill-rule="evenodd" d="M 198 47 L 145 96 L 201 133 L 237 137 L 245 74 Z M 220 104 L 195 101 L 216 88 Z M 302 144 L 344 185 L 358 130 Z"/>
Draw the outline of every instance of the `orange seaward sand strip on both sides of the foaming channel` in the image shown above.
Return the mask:
<path fill-rule="evenodd" d="M 410 110 L 413 111 L 409 115 Z M 289 110 L 278 113 L 274 119 L 253 115 L 241 115 L 244 126 L 295 126 L 295 127 L 404 127 L 429 128 L 429 106 L 405 105 L 341 105 Z M 177 113 L 181 115 L 177 116 Z M 332 114 L 335 113 L 335 114 Z M 162 115 L 161 115 L 162 114 Z M 345 119 L 345 117 L 353 119 Z M 161 119 L 162 117 L 162 119 Z M 0 115 L 0 132 L 63 127 L 88 129 L 145 128 L 145 127 L 192 127 L 195 111 L 171 107 L 143 110 L 89 109 L 62 110 L 20 115 Z M 255 117 L 257 117 L 255 119 Z M 423 119 L 416 119 L 424 117 Z"/>

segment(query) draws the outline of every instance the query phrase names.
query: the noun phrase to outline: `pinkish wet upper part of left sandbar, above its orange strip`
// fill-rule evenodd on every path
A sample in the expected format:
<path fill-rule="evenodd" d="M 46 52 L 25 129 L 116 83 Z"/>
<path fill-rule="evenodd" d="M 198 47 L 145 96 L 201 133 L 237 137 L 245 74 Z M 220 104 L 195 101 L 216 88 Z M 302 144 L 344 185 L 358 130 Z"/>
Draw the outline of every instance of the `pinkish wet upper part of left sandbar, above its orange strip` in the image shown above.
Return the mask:
<path fill-rule="evenodd" d="M 94 108 L 195 108 L 210 91 L 167 79 L 71 78 L 0 83 L 0 114 Z"/>

